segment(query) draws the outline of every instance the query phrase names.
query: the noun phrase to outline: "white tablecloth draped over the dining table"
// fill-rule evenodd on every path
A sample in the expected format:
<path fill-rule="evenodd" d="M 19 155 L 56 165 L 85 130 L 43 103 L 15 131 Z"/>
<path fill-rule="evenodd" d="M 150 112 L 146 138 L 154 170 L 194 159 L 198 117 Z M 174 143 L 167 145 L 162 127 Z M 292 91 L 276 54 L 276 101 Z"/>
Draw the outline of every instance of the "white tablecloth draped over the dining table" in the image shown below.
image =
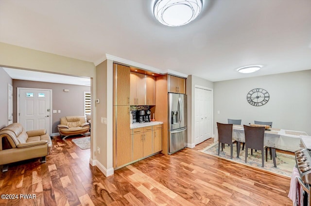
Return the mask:
<path fill-rule="evenodd" d="M 271 130 L 265 130 L 264 145 L 294 152 L 300 149 L 300 136 L 303 135 L 307 135 L 307 133 L 302 131 L 271 128 Z M 232 138 L 236 141 L 245 143 L 244 128 L 242 125 L 233 125 Z M 215 138 L 215 142 L 217 141 L 218 135 Z"/>

